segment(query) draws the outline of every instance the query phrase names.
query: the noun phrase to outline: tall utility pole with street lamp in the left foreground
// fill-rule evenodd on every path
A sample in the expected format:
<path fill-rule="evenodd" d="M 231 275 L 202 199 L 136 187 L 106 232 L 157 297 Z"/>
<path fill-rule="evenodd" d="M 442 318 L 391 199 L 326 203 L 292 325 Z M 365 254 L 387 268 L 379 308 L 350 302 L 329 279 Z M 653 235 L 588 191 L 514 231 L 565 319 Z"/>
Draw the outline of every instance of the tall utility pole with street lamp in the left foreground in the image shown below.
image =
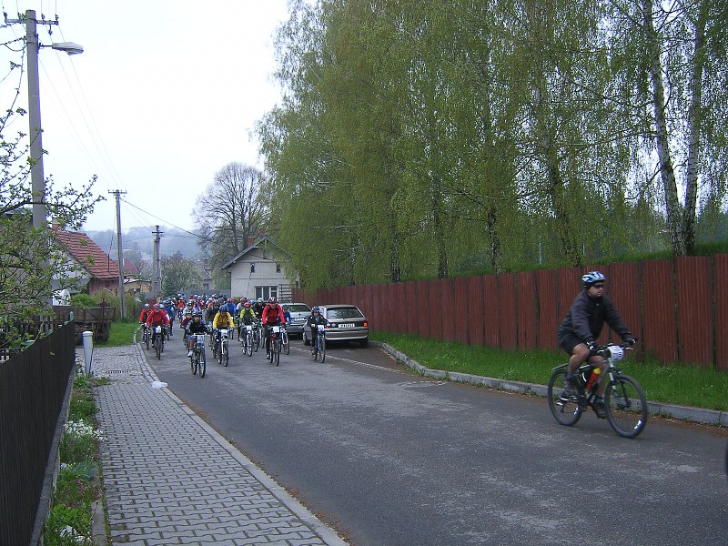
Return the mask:
<path fill-rule="evenodd" d="M 45 179 L 43 174 L 43 137 L 40 123 L 40 86 L 38 85 L 38 35 L 35 30 L 35 10 L 25 12 L 25 50 L 28 57 L 28 122 L 30 125 L 30 181 L 33 192 L 33 226 L 45 224 Z M 60 42 L 50 47 L 68 55 L 83 53 L 84 48 L 73 42 Z"/>

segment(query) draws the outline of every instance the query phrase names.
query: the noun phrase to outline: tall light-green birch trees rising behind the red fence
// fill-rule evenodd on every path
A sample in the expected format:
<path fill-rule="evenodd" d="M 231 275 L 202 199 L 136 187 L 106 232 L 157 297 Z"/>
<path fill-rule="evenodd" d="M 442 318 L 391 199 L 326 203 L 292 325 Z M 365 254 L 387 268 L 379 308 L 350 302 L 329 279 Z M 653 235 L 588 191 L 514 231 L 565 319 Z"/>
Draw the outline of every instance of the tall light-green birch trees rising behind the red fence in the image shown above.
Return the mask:
<path fill-rule="evenodd" d="M 697 151 L 673 170 L 697 173 L 703 209 L 720 219 L 726 139 L 706 105 L 725 107 L 722 12 L 681 4 L 673 20 L 647 3 L 294 3 L 278 33 L 284 100 L 259 133 L 270 229 L 306 285 L 657 249 L 675 229 L 669 185 L 656 183 L 658 112 L 667 151 Z M 676 49 L 651 56 L 655 43 Z M 671 86 L 662 102 L 658 66 Z M 690 232 L 693 204 L 678 212 Z"/>

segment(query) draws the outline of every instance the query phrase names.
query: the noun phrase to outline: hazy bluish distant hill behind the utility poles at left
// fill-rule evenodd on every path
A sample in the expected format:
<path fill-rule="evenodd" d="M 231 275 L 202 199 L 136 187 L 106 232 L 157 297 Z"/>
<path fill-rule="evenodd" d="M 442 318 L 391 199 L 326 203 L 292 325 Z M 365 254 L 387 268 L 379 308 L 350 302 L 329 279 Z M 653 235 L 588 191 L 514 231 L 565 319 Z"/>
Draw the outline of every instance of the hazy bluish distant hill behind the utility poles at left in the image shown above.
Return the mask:
<path fill-rule="evenodd" d="M 135 247 L 139 248 L 143 257 L 151 258 L 154 250 L 154 230 L 155 227 L 131 227 L 122 230 L 121 244 L 125 250 Z M 184 258 L 200 258 L 200 249 L 197 246 L 197 238 L 187 231 L 177 229 L 177 227 L 160 226 L 159 231 L 162 233 L 159 239 L 159 254 L 162 258 L 172 256 L 177 251 Z M 96 245 L 101 247 L 112 258 L 116 257 L 116 230 L 106 229 L 103 231 L 86 231 L 88 238 L 93 240 Z"/>

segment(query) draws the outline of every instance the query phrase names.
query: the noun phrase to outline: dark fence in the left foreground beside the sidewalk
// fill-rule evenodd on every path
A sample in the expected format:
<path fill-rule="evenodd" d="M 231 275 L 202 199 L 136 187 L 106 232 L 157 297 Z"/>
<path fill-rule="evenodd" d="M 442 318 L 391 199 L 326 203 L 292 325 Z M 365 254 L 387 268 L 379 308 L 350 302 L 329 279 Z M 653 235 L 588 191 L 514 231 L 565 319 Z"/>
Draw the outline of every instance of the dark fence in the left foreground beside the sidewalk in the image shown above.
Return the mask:
<path fill-rule="evenodd" d="M 75 361 L 72 323 L 0 361 L 0 544 L 35 542 L 45 521 Z"/>

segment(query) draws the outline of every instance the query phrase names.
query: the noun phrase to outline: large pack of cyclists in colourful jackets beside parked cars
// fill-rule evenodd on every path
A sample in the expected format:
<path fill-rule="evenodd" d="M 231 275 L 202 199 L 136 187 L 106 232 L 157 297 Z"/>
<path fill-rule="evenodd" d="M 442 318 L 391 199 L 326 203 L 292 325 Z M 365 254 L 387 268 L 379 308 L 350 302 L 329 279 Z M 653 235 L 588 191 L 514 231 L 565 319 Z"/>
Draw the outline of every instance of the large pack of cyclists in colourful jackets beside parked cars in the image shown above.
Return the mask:
<path fill-rule="evenodd" d="M 287 305 L 280 305 L 275 297 L 251 300 L 245 297 L 238 299 L 212 296 L 203 298 L 192 296 L 184 298 L 181 294 L 177 298 L 166 298 L 152 305 L 145 303 L 139 315 L 139 323 L 152 332 L 154 341 L 155 327 L 163 326 L 170 336 L 175 318 L 180 319 L 180 327 L 184 329 L 187 346 L 187 357 L 192 358 L 197 334 L 207 334 L 215 343 L 220 341 L 221 329 L 228 329 L 238 332 L 238 338 L 242 340 L 241 332 L 246 326 L 261 325 L 265 339 L 266 356 L 270 350 L 270 332 L 274 326 L 285 326 L 290 322 L 291 316 Z M 236 329 L 236 320 L 238 327 Z M 318 325 L 327 325 L 329 321 L 322 317 L 320 309 L 315 307 L 308 317 L 306 328 L 311 331 L 311 339 L 315 341 L 319 335 Z"/>

